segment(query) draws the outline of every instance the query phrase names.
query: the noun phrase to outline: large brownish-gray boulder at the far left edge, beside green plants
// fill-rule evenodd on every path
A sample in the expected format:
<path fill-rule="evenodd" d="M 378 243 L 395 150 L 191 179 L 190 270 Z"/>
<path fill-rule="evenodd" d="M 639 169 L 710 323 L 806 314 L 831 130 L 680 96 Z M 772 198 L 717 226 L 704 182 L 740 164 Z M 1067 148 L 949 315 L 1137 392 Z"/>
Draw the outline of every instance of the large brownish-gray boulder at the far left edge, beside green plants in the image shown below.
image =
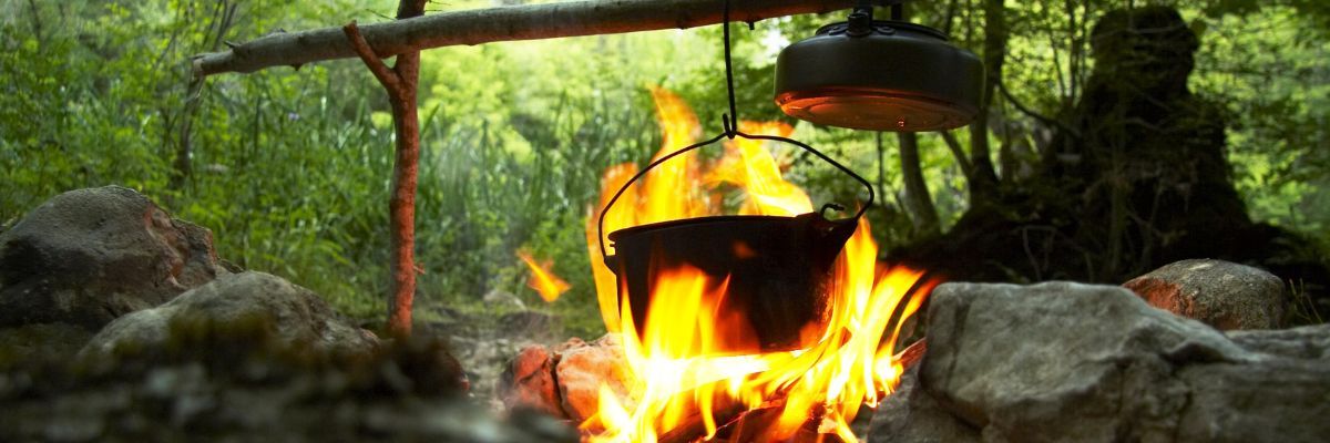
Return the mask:
<path fill-rule="evenodd" d="M 96 331 L 225 273 L 207 229 L 132 189 L 72 190 L 0 234 L 0 327 Z"/>

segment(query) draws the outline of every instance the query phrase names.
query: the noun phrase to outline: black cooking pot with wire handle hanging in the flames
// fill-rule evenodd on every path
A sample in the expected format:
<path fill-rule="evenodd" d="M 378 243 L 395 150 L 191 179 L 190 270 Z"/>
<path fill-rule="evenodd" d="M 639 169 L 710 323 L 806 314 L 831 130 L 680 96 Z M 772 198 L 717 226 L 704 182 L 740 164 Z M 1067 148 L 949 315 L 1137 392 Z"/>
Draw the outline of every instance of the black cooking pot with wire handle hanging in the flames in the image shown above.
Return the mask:
<path fill-rule="evenodd" d="M 601 238 L 605 214 L 633 182 L 674 156 L 716 142 L 722 136 L 661 157 L 624 184 L 601 209 Z M 652 289 L 658 275 L 688 265 L 705 273 L 716 285 L 728 279 L 721 310 L 738 313 L 734 321 L 747 322 L 757 339 L 758 349 L 753 349 L 753 337 L 717 337 L 713 353 L 750 354 L 801 349 L 811 345 L 801 341 L 801 333 L 818 337 L 826 329 L 829 294 L 833 289 L 831 266 L 858 227 L 858 218 L 872 204 L 872 186 L 802 142 L 737 132 L 734 136 L 801 146 L 863 184 L 868 189 L 868 201 L 853 217 L 835 221 L 825 218 L 822 213 L 807 213 L 798 217 L 698 217 L 633 226 L 609 234 L 614 255 L 606 254 L 601 239 L 601 254 L 605 265 L 617 275 L 620 307 L 625 301 L 629 303 L 638 334 L 645 330 Z M 827 205 L 823 210 L 827 208 L 839 206 Z M 678 327 L 694 326 L 680 323 Z"/>

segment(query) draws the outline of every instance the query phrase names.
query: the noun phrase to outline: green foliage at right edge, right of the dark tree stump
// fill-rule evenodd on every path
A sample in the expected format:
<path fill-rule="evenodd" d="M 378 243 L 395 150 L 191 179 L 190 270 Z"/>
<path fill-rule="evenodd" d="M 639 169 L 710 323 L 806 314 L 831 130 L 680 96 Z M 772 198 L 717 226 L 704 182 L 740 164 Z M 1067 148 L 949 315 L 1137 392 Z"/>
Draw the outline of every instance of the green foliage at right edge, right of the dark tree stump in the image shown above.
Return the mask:
<path fill-rule="evenodd" d="M 1208 23 L 1193 88 L 1229 112 L 1238 190 L 1257 220 L 1330 239 L 1330 43 L 1315 16 L 1265 8 Z"/>

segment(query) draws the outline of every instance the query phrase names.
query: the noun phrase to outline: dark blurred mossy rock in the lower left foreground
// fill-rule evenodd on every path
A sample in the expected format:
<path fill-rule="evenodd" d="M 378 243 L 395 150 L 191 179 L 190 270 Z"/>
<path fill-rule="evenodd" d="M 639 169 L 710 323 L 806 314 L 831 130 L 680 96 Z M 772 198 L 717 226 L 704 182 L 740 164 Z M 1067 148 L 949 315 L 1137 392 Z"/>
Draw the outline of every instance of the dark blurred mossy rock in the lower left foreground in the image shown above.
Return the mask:
<path fill-rule="evenodd" d="M 0 371 L 0 442 L 577 442 L 548 415 L 503 418 L 440 390 L 451 376 L 438 374 L 456 367 L 435 345 L 396 342 L 334 365 L 205 350 L 203 361 L 122 354 Z"/>

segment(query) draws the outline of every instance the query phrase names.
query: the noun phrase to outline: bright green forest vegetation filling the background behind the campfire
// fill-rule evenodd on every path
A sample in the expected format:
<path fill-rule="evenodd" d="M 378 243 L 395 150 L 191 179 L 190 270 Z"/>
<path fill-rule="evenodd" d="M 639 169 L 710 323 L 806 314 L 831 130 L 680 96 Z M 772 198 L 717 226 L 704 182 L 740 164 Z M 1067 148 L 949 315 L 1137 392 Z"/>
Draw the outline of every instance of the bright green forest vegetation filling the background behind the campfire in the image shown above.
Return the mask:
<path fill-rule="evenodd" d="M 919 3 L 914 16 L 982 53 L 991 3 Z M 1011 97 L 995 100 L 986 134 L 1003 180 L 1037 160 L 1049 132 L 1040 118 L 1059 118 L 1079 98 L 1092 64 L 1088 28 L 1129 3 L 1005 3 Z M 1177 4 L 1202 40 L 1192 88 L 1230 114 L 1229 157 L 1253 217 L 1330 242 L 1330 7 Z M 210 227 L 222 257 L 309 286 L 351 315 L 383 318 L 392 130 L 370 73 L 344 60 L 190 88 L 188 60 L 282 29 L 386 21 L 394 9 L 387 0 L 0 3 L 0 226 L 60 192 L 120 184 Z M 735 27 L 743 117 L 778 118 L 775 53 L 842 15 Z M 658 149 L 648 85 L 680 92 L 704 132 L 720 130 L 718 37 L 713 27 L 424 52 L 418 306 L 495 309 L 481 302 L 491 290 L 544 305 L 513 255 L 529 247 L 573 285 L 548 309 L 573 333 L 598 329 L 581 229 L 600 170 Z M 960 149 L 972 146 L 968 132 L 955 136 Z M 871 213 L 880 242 L 919 235 L 902 209 L 895 137 L 807 124 L 795 137 L 891 194 Z M 184 162 L 182 144 L 192 153 Z M 967 174 L 942 137 L 922 136 L 920 153 L 940 220 L 954 222 L 968 205 Z M 793 177 L 817 202 L 855 192 L 811 161 Z"/>

